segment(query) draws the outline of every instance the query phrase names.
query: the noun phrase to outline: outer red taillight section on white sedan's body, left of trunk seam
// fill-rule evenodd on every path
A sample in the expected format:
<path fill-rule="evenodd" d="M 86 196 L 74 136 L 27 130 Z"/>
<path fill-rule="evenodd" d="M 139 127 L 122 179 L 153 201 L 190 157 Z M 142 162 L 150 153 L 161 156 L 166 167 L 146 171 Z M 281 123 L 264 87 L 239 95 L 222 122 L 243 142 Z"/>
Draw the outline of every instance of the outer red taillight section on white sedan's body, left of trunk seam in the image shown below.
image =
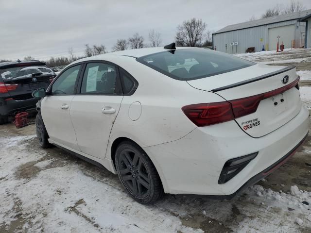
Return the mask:
<path fill-rule="evenodd" d="M 199 127 L 234 119 L 229 102 L 191 104 L 182 107 L 182 110 Z"/>

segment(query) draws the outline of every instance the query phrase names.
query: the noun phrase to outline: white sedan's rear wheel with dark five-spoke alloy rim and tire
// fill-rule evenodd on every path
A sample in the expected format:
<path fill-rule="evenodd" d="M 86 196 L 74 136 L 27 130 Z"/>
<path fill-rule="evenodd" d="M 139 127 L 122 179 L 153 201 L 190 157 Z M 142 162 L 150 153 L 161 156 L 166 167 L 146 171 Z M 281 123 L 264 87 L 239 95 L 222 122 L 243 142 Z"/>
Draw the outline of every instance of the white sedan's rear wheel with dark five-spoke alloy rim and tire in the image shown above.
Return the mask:
<path fill-rule="evenodd" d="M 122 142 L 115 158 L 119 179 L 134 200 L 151 204 L 162 198 L 163 186 L 155 166 L 137 144 Z"/>

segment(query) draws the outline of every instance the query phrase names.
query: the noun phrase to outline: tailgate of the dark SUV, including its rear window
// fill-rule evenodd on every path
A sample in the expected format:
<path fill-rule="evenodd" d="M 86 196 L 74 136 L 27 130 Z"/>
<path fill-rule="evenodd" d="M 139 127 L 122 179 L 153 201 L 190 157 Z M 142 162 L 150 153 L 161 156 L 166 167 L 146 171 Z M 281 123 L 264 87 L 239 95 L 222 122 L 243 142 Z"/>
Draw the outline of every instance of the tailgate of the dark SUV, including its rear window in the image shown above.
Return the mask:
<path fill-rule="evenodd" d="M 32 99 L 33 91 L 42 87 L 47 89 L 56 76 L 44 63 L 21 63 L 0 71 L 3 84 L 14 100 Z"/>

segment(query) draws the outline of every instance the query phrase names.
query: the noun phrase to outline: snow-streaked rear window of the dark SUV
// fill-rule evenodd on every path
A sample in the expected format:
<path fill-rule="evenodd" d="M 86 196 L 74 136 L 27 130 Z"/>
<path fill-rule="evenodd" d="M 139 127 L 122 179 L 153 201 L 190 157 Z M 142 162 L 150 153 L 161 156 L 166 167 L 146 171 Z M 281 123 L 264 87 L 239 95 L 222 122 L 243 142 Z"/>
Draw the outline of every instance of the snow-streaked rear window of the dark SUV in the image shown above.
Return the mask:
<path fill-rule="evenodd" d="M 47 66 L 19 66 L 0 69 L 2 79 L 18 79 L 45 74 L 55 74 L 52 69 Z M 35 74 L 35 75 L 34 75 Z"/>

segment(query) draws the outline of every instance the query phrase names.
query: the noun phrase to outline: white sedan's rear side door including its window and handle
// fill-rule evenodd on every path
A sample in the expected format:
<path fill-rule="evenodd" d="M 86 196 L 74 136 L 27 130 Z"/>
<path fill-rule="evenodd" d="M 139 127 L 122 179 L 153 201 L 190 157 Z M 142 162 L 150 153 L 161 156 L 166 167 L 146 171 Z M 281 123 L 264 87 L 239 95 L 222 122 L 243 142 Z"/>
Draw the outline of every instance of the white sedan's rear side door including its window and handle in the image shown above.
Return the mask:
<path fill-rule="evenodd" d="M 70 116 L 82 152 L 104 158 L 110 131 L 123 98 L 118 68 L 107 62 L 89 62 L 71 101 Z"/>

